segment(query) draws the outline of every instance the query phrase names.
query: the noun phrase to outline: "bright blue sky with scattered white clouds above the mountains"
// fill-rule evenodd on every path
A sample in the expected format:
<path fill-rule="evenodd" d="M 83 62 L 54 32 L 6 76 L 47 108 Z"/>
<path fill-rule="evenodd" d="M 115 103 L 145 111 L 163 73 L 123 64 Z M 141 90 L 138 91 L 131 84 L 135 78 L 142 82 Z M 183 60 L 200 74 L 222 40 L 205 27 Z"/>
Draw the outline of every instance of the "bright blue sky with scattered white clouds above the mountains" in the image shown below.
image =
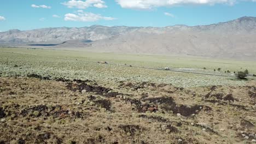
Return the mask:
<path fill-rule="evenodd" d="M 45 27 L 208 25 L 256 16 L 255 0 L 3 0 L 0 31 Z"/>

